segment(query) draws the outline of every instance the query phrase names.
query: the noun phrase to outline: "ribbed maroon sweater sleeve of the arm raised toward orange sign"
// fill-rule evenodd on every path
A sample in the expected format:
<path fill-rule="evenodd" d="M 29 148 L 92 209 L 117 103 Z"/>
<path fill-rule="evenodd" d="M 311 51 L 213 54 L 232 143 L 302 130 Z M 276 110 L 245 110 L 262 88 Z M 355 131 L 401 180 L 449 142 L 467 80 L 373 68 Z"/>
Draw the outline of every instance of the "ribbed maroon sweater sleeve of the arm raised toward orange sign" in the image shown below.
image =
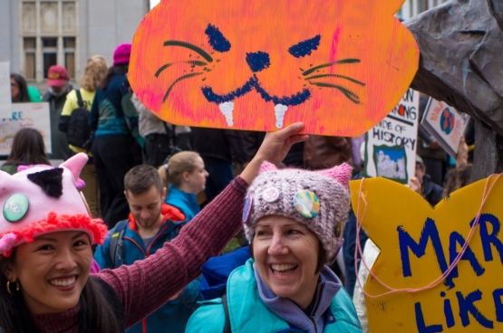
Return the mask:
<path fill-rule="evenodd" d="M 140 321 L 200 275 L 200 267 L 217 256 L 241 228 L 247 182 L 237 176 L 229 186 L 184 226 L 179 236 L 149 258 L 96 277 L 117 292 L 126 328 Z"/>

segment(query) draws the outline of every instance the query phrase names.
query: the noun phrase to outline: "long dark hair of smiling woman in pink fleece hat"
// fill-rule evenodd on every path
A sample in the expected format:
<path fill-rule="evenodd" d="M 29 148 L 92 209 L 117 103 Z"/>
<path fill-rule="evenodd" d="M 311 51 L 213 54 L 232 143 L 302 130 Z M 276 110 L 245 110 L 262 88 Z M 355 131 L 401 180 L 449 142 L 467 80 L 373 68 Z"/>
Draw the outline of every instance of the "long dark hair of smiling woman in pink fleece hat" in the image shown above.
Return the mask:
<path fill-rule="evenodd" d="M 5 333 L 39 333 L 30 311 L 24 305 L 21 292 L 17 292 L 15 295 L 7 292 L 5 271 L 14 262 L 15 249 L 10 257 L 2 256 L 0 258 L 0 328 L 3 328 Z M 14 290 L 11 283 L 11 291 Z M 79 303 L 81 304 L 81 310 L 78 314 L 79 332 L 121 332 L 111 304 L 105 300 L 102 290 L 91 277 L 88 278 L 82 289 Z"/>

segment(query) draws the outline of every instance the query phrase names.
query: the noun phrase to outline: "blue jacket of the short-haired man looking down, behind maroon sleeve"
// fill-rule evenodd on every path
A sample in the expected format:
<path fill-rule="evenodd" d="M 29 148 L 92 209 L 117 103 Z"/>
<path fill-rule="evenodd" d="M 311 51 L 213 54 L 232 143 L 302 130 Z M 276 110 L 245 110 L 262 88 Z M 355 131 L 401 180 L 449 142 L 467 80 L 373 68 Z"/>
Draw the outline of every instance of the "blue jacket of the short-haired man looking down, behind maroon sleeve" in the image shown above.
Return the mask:
<path fill-rule="evenodd" d="M 164 208 L 165 207 L 163 206 L 163 214 Z M 133 224 L 134 220 L 131 224 L 130 215 L 130 223 L 126 227 L 123 239 L 124 252 L 122 263 L 126 265 L 130 265 L 137 260 L 145 259 L 150 254 L 158 251 L 165 242 L 172 240 L 179 234 L 179 230 L 181 226 L 185 224 L 185 221 L 172 222 L 168 219 L 160 227 L 160 231 L 157 233 L 154 241 L 150 244 L 149 249 L 144 247 L 140 234 L 133 230 L 135 228 L 131 228 L 131 225 Z M 110 257 L 110 237 L 113 233 L 114 229 L 111 229 L 105 239 L 105 242 L 96 249 L 94 254 L 94 260 L 98 262 L 102 269 L 115 268 Z M 185 332 L 185 326 L 189 321 L 190 315 L 197 308 L 198 300 L 202 300 L 202 296 L 199 292 L 199 283 L 200 282 L 198 280 L 190 282 L 177 300 L 168 301 L 160 309 L 151 313 L 147 318 L 142 319 L 138 324 L 128 328 L 127 332 Z M 159 288 L 162 288 L 162 286 L 159 286 Z"/>

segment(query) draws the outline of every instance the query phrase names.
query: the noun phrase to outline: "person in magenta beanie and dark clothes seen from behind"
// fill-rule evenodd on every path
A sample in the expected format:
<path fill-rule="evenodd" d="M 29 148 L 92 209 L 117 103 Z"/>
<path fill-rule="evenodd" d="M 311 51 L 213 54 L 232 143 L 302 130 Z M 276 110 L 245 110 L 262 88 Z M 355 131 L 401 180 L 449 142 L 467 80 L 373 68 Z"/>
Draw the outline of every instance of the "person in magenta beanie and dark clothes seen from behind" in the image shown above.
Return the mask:
<path fill-rule="evenodd" d="M 119 45 L 113 53 L 113 65 L 96 90 L 89 117 L 100 208 L 109 227 L 130 214 L 123 181 L 126 173 L 141 159 L 135 155 L 135 138 L 131 135 L 121 104 L 122 98 L 130 93 L 124 85 L 130 55 L 129 43 Z"/>

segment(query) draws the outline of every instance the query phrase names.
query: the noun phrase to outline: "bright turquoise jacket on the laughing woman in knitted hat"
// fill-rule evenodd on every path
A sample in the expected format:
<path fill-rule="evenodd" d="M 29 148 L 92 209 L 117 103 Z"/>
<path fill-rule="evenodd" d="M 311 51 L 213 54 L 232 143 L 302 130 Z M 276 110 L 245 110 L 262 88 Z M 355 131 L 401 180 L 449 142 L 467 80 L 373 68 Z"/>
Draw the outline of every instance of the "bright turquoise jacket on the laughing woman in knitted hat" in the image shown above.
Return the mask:
<path fill-rule="evenodd" d="M 222 300 L 200 303 L 190 317 L 186 332 L 223 332 L 225 325 Z M 227 281 L 227 306 L 230 327 L 239 333 L 286 333 L 302 332 L 292 328 L 267 309 L 260 299 L 253 271 L 253 259 L 232 271 Z M 325 314 L 324 333 L 362 333 L 353 301 L 347 292 L 339 290 Z M 321 333 L 321 332 L 320 332 Z"/>

